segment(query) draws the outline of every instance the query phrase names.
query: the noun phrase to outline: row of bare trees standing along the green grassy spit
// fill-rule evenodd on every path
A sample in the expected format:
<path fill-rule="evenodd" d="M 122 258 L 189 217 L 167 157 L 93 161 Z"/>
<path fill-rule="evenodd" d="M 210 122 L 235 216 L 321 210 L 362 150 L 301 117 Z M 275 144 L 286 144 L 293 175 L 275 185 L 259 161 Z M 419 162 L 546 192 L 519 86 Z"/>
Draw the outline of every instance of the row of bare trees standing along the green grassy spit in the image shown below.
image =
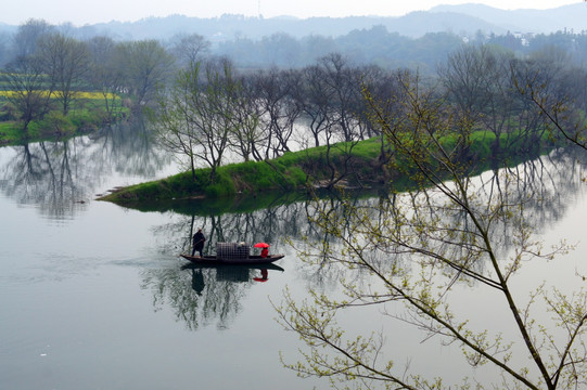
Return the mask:
<path fill-rule="evenodd" d="M 240 73 L 226 58 L 192 61 L 159 94 L 152 118 L 161 143 L 184 157 L 193 178 L 197 168 L 208 167 L 214 183 L 227 155 L 230 162 L 270 162 L 292 150 L 324 145 L 322 169 L 334 185 L 352 172 L 344 159 L 331 160 L 332 147 L 350 156 L 357 142 L 379 136 L 380 166 L 393 157 L 366 95 L 383 102 L 386 117 L 400 126 L 396 120 L 413 109 L 404 103 L 417 86 L 436 106 L 431 115 L 451 123 L 459 158 L 470 157 L 473 131 L 485 132 L 499 157 L 502 143 L 535 153 L 546 133 L 559 138 L 552 118 L 575 129 L 586 108 L 586 80 L 585 69 L 570 66 L 562 52 L 522 60 L 486 46 L 461 48 L 436 77 L 425 79 L 408 69 L 354 66 L 336 53 L 288 70 Z"/>

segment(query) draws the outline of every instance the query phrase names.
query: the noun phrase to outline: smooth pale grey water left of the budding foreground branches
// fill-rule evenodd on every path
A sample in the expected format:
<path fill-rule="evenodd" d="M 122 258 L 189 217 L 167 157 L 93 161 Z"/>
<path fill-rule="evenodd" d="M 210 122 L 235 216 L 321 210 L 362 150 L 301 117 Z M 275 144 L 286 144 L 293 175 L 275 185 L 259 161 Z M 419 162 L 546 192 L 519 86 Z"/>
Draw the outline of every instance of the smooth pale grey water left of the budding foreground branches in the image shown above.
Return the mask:
<path fill-rule="evenodd" d="M 0 148 L 0 388 L 308 388 L 268 299 L 295 257 L 265 282 L 186 270 L 191 216 L 93 200 L 177 171 L 138 135 Z"/>

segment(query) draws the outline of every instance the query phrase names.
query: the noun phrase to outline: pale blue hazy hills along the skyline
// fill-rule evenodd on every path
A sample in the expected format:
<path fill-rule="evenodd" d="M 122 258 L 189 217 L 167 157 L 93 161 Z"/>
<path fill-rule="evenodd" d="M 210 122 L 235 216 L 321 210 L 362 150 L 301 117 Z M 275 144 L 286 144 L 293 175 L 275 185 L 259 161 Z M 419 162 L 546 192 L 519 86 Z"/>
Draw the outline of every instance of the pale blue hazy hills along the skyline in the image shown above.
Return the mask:
<path fill-rule="evenodd" d="M 438 5 L 430 11 L 412 12 L 401 17 L 352 16 L 352 17 L 246 17 L 222 15 L 213 18 L 170 15 L 149 17 L 138 22 L 110 22 L 79 27 L 78 35 L 91 37 L 106 35 L 115 39 L 168 39 L 176 34 L 197 32 L 213 42 L 234 39 L 259 40 L 273 34 L 284 32 L 294 38 L 323 36 L 336 38 L 353 30 L 385 26 L 387 31 L 419 38 L 428 32 L 454 32 L 474 36 L 477 31 L 503 35 L 511 32 L 556 32 L 587 30 L 587 3 L 551 10 L 505 11 L 482 4 Z M 0 24 L 0 32 L 12 32 L 16 26 Z"/>

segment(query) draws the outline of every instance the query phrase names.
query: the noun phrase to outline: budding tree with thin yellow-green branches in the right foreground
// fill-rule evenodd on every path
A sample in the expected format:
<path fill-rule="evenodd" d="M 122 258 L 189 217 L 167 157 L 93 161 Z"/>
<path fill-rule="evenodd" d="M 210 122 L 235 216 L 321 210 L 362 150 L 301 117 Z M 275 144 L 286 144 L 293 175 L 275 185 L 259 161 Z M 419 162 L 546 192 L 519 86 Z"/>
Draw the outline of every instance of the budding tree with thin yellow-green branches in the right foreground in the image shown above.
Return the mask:
<path fill-rule="evenodd" d="M 348 310 L 379 306 L 390 321 L 398 318 L 421 329 L 425 339 L 457 346 L 472 367 L 488 369 L 490 379 L 475 388 L 585 387 L 586 291 L 566 295 L 561 286 L 539 281 L 527 297 L 518 288 L 527 261 L 553 261 L 570 249 L 561 243 L 545 250 L 533 235 L 531 205 L 541 207 L 546 192 L 534 194 L 520 185 L 525 173 L 514 169 L 474 178 L 475 161 L 459 153 L 460 144 L 471 140 L 455 130 L 452 107 L 418 79 L 404 76 L 401 86 L 399 118 L 388 117 L 369 91 L 365 94 L 372 120 L 394 150 L 391 168 L 408 176 L 413 190 L 361 207 L 318 204 L 312 222 L 336 240 L 308 246 L 299 258 L 337 266 L 347 275 L 341 278 L 344 296 L 311 291 L 309 301 L 299 302 L 285 295 L 280 321 L 309 349 L 303 361 L 288 366 L 303 376 L 331 378 L 334 386 L 340 380 L 345 388 L 473 386 L 399 367 L 384 354 L 384 334 L 353 337 L 339 325 Z M 356 273 L 366 274 L 369 283 L 358 283 Z M 454 304 L 463 288 L 490 291 L 502 302 L 500 313 L 509 316 L 511 332 L 471 321 L 477 308 Z M 551 322 L 544 320 L 545 311 Z"/>

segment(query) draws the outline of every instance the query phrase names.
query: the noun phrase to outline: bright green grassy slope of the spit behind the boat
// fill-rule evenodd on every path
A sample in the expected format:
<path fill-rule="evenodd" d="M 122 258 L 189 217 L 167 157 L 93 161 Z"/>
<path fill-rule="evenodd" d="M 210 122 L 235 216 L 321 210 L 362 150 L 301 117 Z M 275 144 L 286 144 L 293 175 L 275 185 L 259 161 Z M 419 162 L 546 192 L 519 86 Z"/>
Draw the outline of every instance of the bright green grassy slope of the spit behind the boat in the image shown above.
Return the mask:
<path fill-rule="evenodd" d="M 492 145 L 495 135 L 487 132 L 472 134 L 470 156 L 474 161 L 475 171 L 492 168 L 494 161 Z M 447 138 L 449 146 L 454 142 Z M 546 143 L 546 142 L 545 142 Z M 509 165 L 518 164 L 525 158 L 536 157 L 524 154 L 525 146 L 515 138 L 502 139 L 502 155 Z M 543 147 L 548 152 L 549 147 Z M 119 205 L 140 207 L 179 199 L 212 199 L 235 195 L 258 195 L 264 192 L 295 192 L 309 186 L 321 186 L 334 176 L 343 177 L 345 185 L 381 183 L 384 178 L 381 169 L 381 140 L 370 139 L 353 145 L 340 143 L 330 148 L 314 147 L 285 155 L 270 161 L 248 161 L 227 165 L 218 168 L 215 183 L 210 182 L 210 169 L 199 169 L 195 178 L 191 172 L 182 172 L 166 179 L 131 185 L 119 188 L 100 200 Z M 350 156 L 350 158 L 348 158 Z M 334 173 L 333 173 L 334 172 Z M 474 173 L 473 171 L 471 173 Z M 398 184 L 404 178 L 395 178 Z M 406 184 L 407 185 L 407 184 Z"/>

